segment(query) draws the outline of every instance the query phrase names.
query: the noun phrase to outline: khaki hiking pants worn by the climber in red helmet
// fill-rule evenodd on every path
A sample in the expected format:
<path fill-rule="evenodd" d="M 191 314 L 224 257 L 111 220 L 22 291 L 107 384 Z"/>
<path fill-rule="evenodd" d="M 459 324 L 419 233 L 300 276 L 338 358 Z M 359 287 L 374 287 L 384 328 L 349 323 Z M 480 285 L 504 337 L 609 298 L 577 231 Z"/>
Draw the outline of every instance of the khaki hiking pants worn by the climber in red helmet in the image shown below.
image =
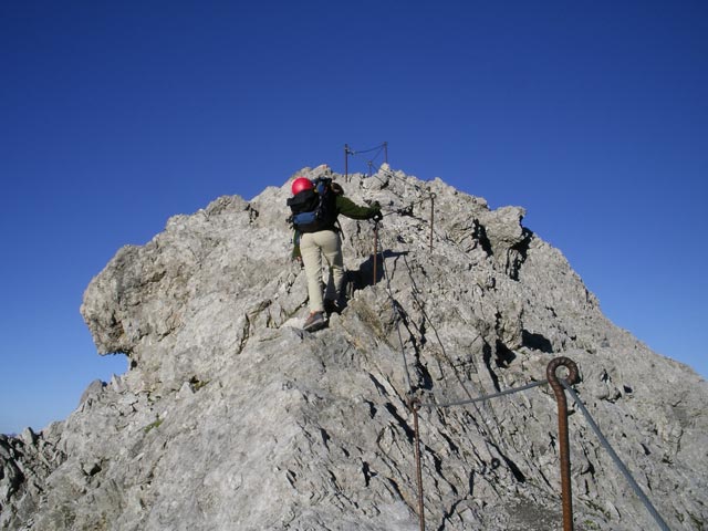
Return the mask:
<path fill-rule="evenodd" d="M 339 232 L 321 230 L 308 232 L 300 238 L 300 253 L 308 277 L 308 295 L 310 311 L 322 312 L 322 257 L 327 262 L 330 275 L 326 283 L 325 299 L 337 301 L 344 283 L 344 260 Z"/>

